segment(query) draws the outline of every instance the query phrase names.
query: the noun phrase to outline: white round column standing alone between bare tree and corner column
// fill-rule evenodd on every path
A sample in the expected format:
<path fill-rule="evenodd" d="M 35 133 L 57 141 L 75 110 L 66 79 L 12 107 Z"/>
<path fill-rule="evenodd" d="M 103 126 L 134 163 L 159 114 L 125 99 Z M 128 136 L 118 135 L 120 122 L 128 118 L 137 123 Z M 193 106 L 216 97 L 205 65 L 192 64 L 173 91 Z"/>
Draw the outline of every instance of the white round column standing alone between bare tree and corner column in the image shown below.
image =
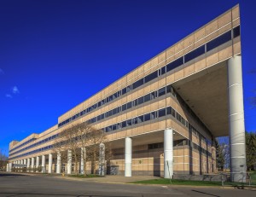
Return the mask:
<path fill-rule="evenodd" d="M 132 140 L 125 138 L 125 177 L 131 177 Z"/>

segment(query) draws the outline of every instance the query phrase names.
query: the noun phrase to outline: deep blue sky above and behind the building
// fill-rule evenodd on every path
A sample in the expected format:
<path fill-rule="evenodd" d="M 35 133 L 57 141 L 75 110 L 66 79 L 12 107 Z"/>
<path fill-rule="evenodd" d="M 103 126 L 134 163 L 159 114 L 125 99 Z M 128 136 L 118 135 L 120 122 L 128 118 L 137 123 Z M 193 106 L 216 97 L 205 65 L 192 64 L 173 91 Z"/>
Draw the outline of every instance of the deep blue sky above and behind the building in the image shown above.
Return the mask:
<path fill-rule="evenodd" d="M 246 130 L 256 130 L 254 1 L 1 0 L 0 148 L 240 3 Z M 254 73 L 250 73 L 254 71 Z"/>

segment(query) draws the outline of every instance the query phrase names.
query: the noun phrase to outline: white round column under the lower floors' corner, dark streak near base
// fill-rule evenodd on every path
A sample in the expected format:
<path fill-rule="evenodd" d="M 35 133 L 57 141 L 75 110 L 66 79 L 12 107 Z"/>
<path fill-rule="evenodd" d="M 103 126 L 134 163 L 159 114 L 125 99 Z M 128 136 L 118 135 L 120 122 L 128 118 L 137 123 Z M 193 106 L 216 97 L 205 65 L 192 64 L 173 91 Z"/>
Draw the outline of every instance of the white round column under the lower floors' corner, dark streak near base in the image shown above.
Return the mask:
<path fill-rule="evenodd" d="M 173 131 L 166 129 L 164 131 L 164 177 L 173 176 Z"/>

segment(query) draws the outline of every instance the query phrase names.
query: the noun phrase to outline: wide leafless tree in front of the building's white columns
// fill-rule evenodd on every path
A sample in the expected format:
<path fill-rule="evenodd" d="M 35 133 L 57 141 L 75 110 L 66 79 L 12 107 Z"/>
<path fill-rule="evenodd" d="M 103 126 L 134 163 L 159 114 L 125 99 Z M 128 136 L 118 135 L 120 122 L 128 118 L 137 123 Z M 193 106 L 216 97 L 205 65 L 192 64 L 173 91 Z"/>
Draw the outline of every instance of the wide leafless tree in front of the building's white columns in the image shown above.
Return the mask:
<path fill-rule="evenodd" d="M 96 173 L 96 166 L 100 160 L 100 144 L 106 143 L 104 155 L 110 159 L 111 151 L 106 134 L 103 130 L 97 130 L 87 122 L 71 125 L 63 130 L 55 140 L 55 152 L 61 153 L 61 160 L 67 160 L 67 150 L 72 151 L 74 172 L 79 173 L 79 161 L 83 163 L 84 176 L 86 176 L 86 162 L 91 162 L 91 172 Z M 81 150 L 84 151 L 81 153 Z M 101 154 L 102 155 L 102 154 Z M 105 161 L 104 161 L 105 163 Z"/>

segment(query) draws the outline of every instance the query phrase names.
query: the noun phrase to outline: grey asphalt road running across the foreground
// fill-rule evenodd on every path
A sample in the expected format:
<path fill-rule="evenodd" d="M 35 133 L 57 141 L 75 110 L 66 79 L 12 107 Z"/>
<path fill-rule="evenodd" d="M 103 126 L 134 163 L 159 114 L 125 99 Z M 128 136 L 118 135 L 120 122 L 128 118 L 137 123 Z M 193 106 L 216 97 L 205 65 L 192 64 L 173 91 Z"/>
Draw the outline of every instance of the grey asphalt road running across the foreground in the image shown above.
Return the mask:
<path fill-rule="evenodd" d="M 95 183 L 60 177 L 26 176 L 0 172 L 2 196 L 84 196 L 84 197 L 161 197 L 161 196 L 256 196 L 256 191 L 222 188 L 183 188 L 135 184 Z"/>

